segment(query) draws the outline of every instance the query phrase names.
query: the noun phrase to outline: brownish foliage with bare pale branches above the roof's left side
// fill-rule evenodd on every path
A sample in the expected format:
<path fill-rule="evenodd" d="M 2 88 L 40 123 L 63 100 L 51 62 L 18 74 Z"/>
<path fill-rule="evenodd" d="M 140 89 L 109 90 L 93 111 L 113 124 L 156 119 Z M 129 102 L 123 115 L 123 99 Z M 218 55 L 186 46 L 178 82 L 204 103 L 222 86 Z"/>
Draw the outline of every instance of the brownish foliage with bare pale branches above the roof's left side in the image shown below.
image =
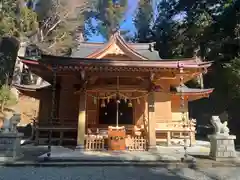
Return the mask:
<path fill-rule="evenodd" d="M 90 1 L 38 1 L 36 12 L 41 23 L 35 43 L 43 51 L 54 55 L 65 55 L 76 47 L 77 29 L 83 27 L 83 13 Z"/>

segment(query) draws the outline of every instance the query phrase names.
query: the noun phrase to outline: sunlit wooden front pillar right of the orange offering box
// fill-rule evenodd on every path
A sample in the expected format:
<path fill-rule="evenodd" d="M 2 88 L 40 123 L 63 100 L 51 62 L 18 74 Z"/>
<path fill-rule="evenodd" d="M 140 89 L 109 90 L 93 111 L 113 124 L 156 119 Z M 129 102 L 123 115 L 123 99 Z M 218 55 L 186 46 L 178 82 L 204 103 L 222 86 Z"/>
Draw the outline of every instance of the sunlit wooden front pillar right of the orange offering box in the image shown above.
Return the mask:
<path fill-rule="evenodd" d="M 155 119 L 154 93 L 148 96 L 148 149 L 156 150 L 156 119 Z"/>

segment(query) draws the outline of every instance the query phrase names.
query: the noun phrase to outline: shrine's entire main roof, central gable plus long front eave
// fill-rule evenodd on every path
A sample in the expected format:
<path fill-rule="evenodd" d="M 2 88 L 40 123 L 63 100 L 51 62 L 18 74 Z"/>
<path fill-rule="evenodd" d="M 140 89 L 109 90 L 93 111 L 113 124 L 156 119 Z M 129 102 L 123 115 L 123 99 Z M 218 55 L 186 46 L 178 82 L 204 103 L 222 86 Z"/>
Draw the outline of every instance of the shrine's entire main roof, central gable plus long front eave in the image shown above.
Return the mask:
<path fill-rule="evenodd" d="M 114 57 L 113 57 L 114 56 Z M 116 57 L 116 58 L 115 58 Z M 127 43 L 120 33 L 114 34 L 108 43 L 82 43 L 79 51 L 69 56 L 44 55 L 38 58 L 19 57 L 26 65 L 41 65 L 51 69 L 57 65 L 61 70 L 87 71 L 144 71 L 158 72 L 162 69 L 206 70 L 211 62 L 197 57 L 161 59 L 153 44 Z"/>

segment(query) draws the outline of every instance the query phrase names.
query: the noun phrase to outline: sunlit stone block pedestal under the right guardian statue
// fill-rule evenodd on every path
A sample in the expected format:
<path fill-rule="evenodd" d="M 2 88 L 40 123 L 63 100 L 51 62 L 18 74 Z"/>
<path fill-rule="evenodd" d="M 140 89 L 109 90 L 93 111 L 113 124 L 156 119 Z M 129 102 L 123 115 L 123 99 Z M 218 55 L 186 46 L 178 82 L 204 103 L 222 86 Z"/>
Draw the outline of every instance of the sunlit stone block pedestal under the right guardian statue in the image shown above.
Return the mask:
<path fill-rule="evenodd" d="M 210 154 L 215 161 L 231 161 L 236 157 L 234 135 L 209 135 Z"/>

